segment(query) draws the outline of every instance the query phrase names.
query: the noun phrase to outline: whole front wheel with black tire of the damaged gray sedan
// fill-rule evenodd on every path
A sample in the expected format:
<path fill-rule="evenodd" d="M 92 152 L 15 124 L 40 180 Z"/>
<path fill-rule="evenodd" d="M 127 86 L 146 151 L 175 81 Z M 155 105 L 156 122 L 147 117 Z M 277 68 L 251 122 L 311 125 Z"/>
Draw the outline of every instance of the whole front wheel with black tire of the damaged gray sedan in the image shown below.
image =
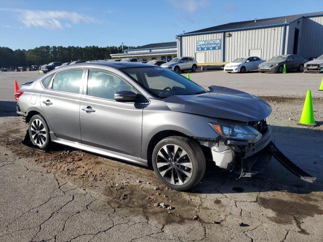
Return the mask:
<path fill-rule="evenodd" d="M 203 178 L 205 157 L 194 140 L 171 136 L 159 141 L 153 149 L 152 166 L 165 185 L 186 191 Z"/>

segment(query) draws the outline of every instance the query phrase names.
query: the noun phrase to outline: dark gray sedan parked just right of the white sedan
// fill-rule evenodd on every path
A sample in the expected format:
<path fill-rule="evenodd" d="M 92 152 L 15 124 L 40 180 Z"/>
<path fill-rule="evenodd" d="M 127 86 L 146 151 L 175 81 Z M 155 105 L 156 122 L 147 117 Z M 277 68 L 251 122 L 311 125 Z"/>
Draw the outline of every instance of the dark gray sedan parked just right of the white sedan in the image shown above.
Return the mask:
<path fill-rule="evenodd" d="M 264 72 L 283 73 L 284 64 L 285 64 L 287 72 L 290 72 L 290 71 L 303 72 L 305 62 L 306 62 L 306 59 L 304 59 L 303 57 L 297 54 L 277 55 L 271 58 L 269 61 L 259 64 L 258 71 L 261 73 L 264 73 Z"/>

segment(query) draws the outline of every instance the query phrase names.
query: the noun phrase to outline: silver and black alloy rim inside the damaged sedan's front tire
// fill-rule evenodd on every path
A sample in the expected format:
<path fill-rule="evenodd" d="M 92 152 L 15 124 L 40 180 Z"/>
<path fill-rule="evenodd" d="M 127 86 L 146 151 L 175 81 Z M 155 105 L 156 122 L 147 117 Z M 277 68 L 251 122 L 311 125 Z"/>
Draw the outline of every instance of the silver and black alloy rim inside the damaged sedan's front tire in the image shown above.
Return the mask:
<path fill-rule="evenodd" d="M 167 144 L 159 149 L 156 166 L 161 177 L 172 185 L 187 183 L 193 173 L 189 155 L 182 147 L 174 144 Z"/>

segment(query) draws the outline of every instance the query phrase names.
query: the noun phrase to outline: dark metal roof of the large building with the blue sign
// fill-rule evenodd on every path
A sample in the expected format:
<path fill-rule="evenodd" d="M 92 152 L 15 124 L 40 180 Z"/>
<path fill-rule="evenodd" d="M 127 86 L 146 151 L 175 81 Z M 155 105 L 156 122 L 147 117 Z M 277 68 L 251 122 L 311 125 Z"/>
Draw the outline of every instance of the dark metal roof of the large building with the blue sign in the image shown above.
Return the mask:
<path fill-rule="evenodd" d="M 191 31 L 180 35 L 213 32 L 213 31 L 225 31 L 225 30 L 233 30 L 233 29 L 261 28 L 264 26 L 270 27 L 272 25 L 275 26 L 275 25 L 289 24 L 303 17 L 313 17 L 313 16 L 320 16 L 320 15 L 323 15 L 323 12 L 296 14 L 296 15 L 289 15 L 289 16 L 282 16 L 282 17 L 268 18 L 268 19 L 256 19 L 256 20 L 249 20 L 249 21 L 243 21 L 243 22 L 233 22 L 233 23 L 213 26 L 205 29 L 200 29 L 196 31 Z"/>

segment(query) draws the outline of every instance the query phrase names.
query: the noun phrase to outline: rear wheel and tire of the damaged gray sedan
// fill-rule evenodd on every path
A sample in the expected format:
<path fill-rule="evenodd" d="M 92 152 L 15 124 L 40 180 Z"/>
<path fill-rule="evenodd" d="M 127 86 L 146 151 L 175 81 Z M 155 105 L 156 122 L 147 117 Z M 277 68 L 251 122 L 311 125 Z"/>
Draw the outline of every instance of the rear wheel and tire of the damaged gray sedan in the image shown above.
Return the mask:
<path fill-rule="evenodd" d="M 33 145 L 39 149 L 45 150 L 50 142 L 49 129 L 45 119 L 37 114 L 29 120 L 29 137 Z"/>

